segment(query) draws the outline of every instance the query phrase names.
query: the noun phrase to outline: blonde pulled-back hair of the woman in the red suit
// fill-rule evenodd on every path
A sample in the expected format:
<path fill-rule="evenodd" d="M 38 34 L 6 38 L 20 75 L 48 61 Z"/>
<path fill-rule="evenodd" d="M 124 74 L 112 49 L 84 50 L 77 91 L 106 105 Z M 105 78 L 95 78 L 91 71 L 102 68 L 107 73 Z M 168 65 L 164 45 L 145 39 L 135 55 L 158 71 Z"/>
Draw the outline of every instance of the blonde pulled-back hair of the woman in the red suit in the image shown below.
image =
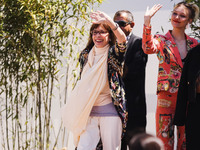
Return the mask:
<path fill-rule="evenodd" d="M 179 2 L 174 6 L 174 9 L 178 8 L 179 6 L 185 6 L 189 9 L 189 18 L 192 19 L 192 21 L 195 21 L 199 17 L 199 7 L 194 3 L 187 3 L 187 2 Z"/>

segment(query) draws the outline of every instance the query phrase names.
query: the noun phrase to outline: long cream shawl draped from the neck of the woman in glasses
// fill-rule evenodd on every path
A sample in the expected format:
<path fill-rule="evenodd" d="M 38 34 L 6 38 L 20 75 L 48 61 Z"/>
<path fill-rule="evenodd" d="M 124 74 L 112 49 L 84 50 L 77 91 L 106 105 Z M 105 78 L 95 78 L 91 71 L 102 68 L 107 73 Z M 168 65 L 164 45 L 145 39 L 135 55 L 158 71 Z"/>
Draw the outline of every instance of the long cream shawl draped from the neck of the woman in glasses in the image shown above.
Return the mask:
<path fill-rule="evenodd" d="M 81 79 L 71 92 L 67 104 L 61 109 L 61 115 L 64 126 L 74 135 L 74 144 L 78 145 L 79 137 L 86 128 L 91 109 L 100 92 L 106 84 L 107 76 L 107 58 L 109 45 L 102 48 L 105 52 L 94 63 L 95 47 L 88 55 Z"/>

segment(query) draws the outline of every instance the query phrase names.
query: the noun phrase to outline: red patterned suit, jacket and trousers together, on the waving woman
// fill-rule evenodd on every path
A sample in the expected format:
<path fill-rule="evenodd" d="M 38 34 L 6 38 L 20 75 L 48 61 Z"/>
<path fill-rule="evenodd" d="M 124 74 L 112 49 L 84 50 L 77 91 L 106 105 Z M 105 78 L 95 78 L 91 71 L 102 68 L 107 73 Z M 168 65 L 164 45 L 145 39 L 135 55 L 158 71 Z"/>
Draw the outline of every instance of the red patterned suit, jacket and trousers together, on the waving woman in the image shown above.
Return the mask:
<path fill-rule="evenodd" d="M 187 50 L 195 47 L 197 40 L 185 35 Z M 156 134 L 163 141 L 165 149 L 173 149 L 176 95 L 180 83 L 183 63 L 178 47 L 168 31 L 165 35 L 151 35 L 151 27 L 144 26 L 142 48 L 146 54 L 157 54 L 159 60 L 156 109 Z M 178 147 L 185 149 L 184 127 L 178 129 Z"/>

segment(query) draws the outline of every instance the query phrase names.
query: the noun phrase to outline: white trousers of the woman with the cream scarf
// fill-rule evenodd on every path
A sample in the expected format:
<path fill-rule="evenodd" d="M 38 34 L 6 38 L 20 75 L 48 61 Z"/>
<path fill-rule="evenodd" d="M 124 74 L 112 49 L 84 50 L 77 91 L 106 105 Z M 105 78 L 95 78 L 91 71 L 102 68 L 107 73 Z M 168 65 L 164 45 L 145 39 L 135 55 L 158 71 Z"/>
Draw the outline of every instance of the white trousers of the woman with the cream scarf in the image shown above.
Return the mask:
<path fill-rule="evenodd" d="M 103 150 L 119 150 L 121 135 L 120 117 L 89 117 L 86 130 L 80 136 L 77 150 L 95 150 L 100 138 Z"/>

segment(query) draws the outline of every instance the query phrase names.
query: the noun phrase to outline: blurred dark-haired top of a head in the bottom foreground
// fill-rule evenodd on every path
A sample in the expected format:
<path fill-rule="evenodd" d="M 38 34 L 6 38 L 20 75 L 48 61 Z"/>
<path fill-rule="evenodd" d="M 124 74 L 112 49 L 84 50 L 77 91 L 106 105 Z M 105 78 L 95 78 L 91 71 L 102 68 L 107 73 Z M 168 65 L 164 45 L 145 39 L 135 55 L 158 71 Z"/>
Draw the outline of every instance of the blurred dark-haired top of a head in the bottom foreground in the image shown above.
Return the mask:
<path fill-rule="evenodd" d="M 163 142 L 147 133 L 141 133 L 135 135 L 130 143 L 129 143 L 130 150 L 164 150 Z"/>

